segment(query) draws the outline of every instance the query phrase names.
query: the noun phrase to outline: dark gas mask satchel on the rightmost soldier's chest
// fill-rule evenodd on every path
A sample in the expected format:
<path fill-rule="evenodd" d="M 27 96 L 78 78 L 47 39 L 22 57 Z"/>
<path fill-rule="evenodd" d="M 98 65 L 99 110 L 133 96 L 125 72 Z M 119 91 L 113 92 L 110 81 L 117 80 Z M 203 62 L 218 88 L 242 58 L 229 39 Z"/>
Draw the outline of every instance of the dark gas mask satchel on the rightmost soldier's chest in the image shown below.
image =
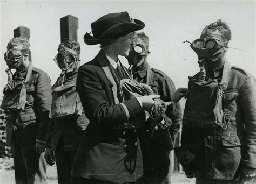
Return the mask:
<path fill-rule="evenodd" d="M 190 94 L 187 98 L 183 117 L 183 127 L 211 128 L 223 124 L 220 79 L 201 81 L 189 77 Z"/>

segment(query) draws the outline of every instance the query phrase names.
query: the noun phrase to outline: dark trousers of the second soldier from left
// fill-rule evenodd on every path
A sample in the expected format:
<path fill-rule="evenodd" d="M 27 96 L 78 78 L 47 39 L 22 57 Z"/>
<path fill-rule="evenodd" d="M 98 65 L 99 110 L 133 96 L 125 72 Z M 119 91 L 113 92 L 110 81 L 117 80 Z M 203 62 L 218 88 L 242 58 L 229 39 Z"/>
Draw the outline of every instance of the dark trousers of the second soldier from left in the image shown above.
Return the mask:
<path fill-rule="evenodd" d="M 77 152 L 76 150 L 65 151 L 63 138 L 62 137 L 59 138 L 59 141 L 55 150 L 55 159 L 56 159 L 56 165 L 57 165 L 57 174 L 58 174 L 59 184 L 70 183 L 71 181 L 70 171 L 71 171 L 71 167 L 72 167 L 76 152 Z"/>

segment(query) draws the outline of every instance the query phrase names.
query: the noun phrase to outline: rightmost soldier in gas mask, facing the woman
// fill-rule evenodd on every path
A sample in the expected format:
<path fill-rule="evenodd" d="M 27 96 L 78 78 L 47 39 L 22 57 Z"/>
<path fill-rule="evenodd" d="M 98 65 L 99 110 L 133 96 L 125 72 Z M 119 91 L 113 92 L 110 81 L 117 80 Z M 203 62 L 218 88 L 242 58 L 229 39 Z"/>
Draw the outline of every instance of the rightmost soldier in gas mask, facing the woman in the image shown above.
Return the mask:
<path fill-rule="evenodd" d="M 189 77 L 181 148 L 189 157 L 187 176 L 200 184 L 245 183 L 255 177 L 255 79 L 226 59 L 230 40 L 230 27 L 219 19 L 191 43 L 206 73 L 200 69 Z"/>

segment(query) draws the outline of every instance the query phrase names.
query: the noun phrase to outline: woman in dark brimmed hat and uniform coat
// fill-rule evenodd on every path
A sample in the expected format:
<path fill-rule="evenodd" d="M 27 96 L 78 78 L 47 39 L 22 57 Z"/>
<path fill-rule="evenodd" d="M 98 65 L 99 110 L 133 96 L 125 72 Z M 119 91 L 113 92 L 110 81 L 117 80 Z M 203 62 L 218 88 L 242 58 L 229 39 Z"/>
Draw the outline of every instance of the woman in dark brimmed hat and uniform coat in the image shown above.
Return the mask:
<path fill-rule="evenodd" d="M 93 36 L 86 33 L 85 44 L 102 49 L 78 70 L 77 91 L 90 124 L 73 162 L 71 183 L 136 183 L 143 175 L 138 131 L 124 122 L 150 111 L 159 96 L 123 101 L 119 82 L 129 73 L 118 55 L 129 55 L 133 32 L 145 24 L 121 12 L 100 17 L 91 27 Z"/>

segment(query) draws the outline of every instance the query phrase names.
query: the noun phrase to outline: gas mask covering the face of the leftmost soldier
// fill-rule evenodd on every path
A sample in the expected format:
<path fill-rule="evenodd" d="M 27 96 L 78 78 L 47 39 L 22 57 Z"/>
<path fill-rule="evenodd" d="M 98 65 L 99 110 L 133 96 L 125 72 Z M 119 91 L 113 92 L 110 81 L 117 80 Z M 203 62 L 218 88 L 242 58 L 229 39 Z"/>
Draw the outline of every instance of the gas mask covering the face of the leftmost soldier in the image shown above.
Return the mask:
<path fill-rule="evenodd" d="M 18 68 L 23 62 L 23 56 L 29 56 L 29 49 L 10 49 L 4 53 L 4 60 L 9 69 Z"/>

